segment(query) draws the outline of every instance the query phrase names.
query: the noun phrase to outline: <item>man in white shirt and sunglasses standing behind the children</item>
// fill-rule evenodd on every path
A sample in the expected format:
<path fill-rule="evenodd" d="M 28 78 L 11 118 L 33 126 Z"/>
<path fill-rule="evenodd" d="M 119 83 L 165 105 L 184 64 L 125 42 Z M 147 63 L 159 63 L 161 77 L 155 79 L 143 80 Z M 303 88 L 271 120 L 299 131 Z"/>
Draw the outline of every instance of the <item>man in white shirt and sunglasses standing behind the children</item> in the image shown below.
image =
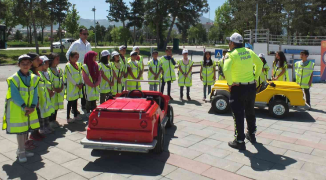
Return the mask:
<path fill-rule="evenodd" d="M 88 51 L 92 50 L 91 44 L 86 40 L 89 33 L 86 28 L 82 28 L 79 30 L 79 39 L 74 41 L 69 47 L 66 57 L 69 60 L 69 54 L 72 51 L 77 51 L 79 53 L 78 62 L 84 64 L 84 56 Z"/>

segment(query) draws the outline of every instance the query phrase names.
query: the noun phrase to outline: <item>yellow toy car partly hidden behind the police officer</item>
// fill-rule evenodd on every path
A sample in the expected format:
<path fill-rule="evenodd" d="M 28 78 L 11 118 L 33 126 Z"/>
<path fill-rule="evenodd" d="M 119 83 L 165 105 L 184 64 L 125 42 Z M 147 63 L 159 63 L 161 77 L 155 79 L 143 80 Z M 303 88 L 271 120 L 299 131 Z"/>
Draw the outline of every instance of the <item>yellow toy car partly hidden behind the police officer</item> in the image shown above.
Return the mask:
<path fill-rule="evenodd" d="M 230 109 L 230 92 L 226 80 L 217 80 L 211 92 L 212 108 L 217 113 Z M 276 118 L 283 118 L 289 107 L 309 108 L 303 99 L 301 87 L 295 82 L 264 81 L 256 91 L 255 106 L 268 107 L 269 113 Z"/>

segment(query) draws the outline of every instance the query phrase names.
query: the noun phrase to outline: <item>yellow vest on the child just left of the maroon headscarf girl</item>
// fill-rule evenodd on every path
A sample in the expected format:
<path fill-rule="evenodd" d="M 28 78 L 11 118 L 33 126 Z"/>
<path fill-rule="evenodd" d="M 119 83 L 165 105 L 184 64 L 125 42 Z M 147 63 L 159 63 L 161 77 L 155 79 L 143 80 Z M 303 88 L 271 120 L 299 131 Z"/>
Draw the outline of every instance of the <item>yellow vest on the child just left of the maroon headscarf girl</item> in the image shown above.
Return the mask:
<path fill-rule="evenodd" d="M 80 62 L 76 62 L 78 69 L 76 69 L 70 62 L 66 64 L 64 77 L 66 79 L 66 88 L 65 88 L 65 99 L 68 101 L 76 100 L 83 97 L 82 89 L 78 88 L 73 84 L 69 79 L 67 79 L 67 73 L 75 80 L 76 84 L 79 85 L 82 83 L 82 72 Z"/>

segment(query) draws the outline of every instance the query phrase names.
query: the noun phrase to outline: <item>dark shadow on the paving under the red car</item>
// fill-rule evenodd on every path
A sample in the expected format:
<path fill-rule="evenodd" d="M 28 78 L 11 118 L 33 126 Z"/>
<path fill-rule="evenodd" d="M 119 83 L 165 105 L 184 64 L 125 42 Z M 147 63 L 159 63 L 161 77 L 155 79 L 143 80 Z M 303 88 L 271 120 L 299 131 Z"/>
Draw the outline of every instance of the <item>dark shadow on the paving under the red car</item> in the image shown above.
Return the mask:
<path fill-rule="evenodd" d="M 174 136 L 176 130 L 177 126 L 175 125 L 166 128 L 165 151 L 161 154 L 153 151 L 140 153 L 93 149 L 91 155 L 100 158 L 97 158 L 94 162 L 89 162 L 83 170 L 117 173 L 125 177 L 131 175 L 159 175 L 163 172 L 166 161 L 170 157 L 168 150 L 170 141 L 172 138 L 178 138 Z"/>

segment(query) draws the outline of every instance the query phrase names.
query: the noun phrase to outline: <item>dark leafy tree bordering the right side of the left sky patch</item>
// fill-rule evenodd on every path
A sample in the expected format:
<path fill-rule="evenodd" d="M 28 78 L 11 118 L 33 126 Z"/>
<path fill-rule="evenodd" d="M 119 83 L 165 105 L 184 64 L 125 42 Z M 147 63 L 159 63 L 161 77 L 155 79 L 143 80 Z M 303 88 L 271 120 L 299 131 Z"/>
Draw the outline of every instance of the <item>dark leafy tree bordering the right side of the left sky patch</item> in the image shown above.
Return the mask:
<path fill-rule="evenodd" d="M 109 21 L 121 21 L 123 28 L 126 27 L 125 21 L 129 17 L 129 8 L 125 5 L 123 0 L 105 0 L 105 2 L 110 4 L 107 18 Z M 127 46 L 127 39 L 124 41 L 124 45 Z"/>

